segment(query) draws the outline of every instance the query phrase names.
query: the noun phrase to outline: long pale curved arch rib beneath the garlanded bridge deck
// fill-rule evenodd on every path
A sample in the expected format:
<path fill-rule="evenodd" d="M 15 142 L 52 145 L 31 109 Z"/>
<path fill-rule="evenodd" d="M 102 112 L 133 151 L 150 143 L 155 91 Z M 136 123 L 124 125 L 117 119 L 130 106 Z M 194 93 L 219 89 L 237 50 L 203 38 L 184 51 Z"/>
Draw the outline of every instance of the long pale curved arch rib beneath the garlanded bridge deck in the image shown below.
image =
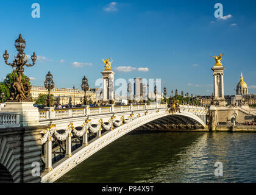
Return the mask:
<path fill-rule="evenodd" d="M 162 109 L 157 110 L 156 112 L 150 112 L 147 115 L 142 112 L 141 115 L 142 116 L 137 116 L 136 112 L 135 116 L 137 116 L 137 118 L 119 127 L 116 127 L 113 130 L 105 132 L 102 137 L 98 137 L 94 141 L 91 140 L 91 143 L 89 142 L 87 145 L 84 144 L 75 151 L 71 151 L 71 155 L 69 155 L 68 158 L 62 158 L 58 163 L 52 165 L 51 171 L 44 172 L 41 175 L 41 182 L 54 182 L 55 180 L 62 177 L 66 172 L 79 165 L 79 163 L 101 150 L 103 147 L 107 146 L 108 144 L 112 143 L 123 135 L 126 135 L 132 130 L 137 129 L 144 124 L 148 124 L 149 122 L 156 121 L 157 119 L 163 119 L 165 117 L 177 118 L 185 123 L 190 122 L 200 124 L 203 129 L 207 129 L 207 126 L 205 126 L 205 122 L 202 121 L 199 116 L 196 116 L 190 112 L 172 114 L 169 113 L 166 109 Z M 125 118 L 127 118 L 127 116 Z M 76 128 L 77 126 L 74 127 Z"/>

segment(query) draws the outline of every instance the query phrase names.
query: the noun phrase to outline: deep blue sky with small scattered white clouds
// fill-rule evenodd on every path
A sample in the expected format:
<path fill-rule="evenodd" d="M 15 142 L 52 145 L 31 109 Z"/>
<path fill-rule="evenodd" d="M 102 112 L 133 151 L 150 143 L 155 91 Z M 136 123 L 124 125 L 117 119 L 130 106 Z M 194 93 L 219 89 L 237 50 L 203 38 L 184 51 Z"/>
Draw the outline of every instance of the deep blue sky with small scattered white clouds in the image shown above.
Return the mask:
<path fill-rule="evenodd" d="M 40 4 L 40 18 L 31 5 Z M 233 94 L 241 71 L 256 93 L 256 1 L 218 1 L 223 19 L 214 16 L 216 1 L 1 1 L 0 54 L 16 54 L 19 34 L 25 52 L 38 60 L 25 74 L 43 85 L 48 71 L 57 87 L 90 87 L 101 77 L 102 59 L 112 57 L 115 78 L 162 79 L 171 90 L 212 94 L 210 55 L 225 53 L 224 93 Z M 0 59 L 0 80 L 12 68 Z"/>

